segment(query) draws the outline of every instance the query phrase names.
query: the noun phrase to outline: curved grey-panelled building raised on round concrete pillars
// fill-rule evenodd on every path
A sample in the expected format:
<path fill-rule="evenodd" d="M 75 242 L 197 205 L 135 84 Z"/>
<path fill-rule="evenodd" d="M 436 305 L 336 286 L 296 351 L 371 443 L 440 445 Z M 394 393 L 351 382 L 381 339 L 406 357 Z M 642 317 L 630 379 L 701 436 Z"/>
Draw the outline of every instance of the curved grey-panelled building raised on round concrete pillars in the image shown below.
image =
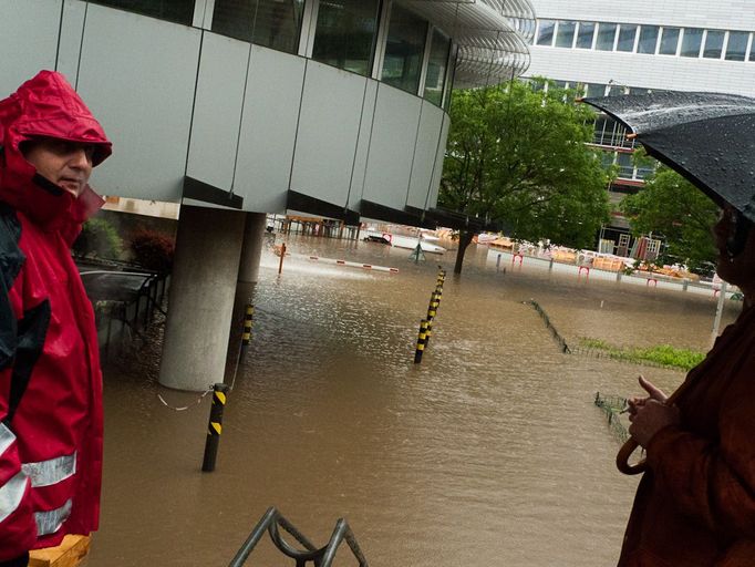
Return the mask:
<path fill-rule="evenodd" d="M 524 72 L 532 31 L 528 0 L 0 0 L 0 96 L 61 71 L 114 143 L 95 188 L 180 203 L 161 382 L 200 390 L 265 214 L 437 216 L 452 85 Z"/>

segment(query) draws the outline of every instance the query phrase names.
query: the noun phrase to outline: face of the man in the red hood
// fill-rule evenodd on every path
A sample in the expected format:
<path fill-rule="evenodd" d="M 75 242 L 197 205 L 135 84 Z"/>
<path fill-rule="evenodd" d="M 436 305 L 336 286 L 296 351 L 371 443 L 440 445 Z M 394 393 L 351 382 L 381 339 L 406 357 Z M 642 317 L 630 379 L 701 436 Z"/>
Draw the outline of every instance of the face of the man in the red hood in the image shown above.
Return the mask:
<path fill-rule="evenodd" d="M 92 175 L 94 146 L 65 140 L 42 138 L 23 148 L 23 156 L 42 177 L 79 197 Z"/>

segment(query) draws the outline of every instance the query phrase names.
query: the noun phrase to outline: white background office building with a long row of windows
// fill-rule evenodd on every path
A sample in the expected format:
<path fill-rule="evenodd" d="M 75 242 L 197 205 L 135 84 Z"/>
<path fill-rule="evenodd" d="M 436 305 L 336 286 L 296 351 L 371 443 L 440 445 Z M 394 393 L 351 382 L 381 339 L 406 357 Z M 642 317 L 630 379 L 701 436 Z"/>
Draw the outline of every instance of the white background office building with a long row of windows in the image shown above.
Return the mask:
<path fill-rule="evenodd" d="M 587 96 L 659 90 L 755 96 L 755 10 L 746 0 L 532 0 L 537 30 L 528 76 L 546 76 Z M 600 117 L 594 144 L 616 163 L 612 203 L 643 185 L 633 142 Z M 603 236 L 627 249 L 627 221 L 613 214 Z M 621 235 L 624 235 L 623 237 Z M 609 251 L 609 250 L 604 250 Z"/>

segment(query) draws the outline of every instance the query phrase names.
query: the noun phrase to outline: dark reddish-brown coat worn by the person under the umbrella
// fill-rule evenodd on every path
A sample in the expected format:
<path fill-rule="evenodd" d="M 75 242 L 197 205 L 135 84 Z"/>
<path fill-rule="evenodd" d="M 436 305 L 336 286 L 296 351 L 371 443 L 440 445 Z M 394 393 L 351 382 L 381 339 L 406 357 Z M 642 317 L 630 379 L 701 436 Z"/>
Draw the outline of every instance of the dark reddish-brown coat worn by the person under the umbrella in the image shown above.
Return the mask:
<path fill-rule="evenodd" d="M 755 307 L 686 377 L 650 441 L 619 567 L 755 566 Z"/>

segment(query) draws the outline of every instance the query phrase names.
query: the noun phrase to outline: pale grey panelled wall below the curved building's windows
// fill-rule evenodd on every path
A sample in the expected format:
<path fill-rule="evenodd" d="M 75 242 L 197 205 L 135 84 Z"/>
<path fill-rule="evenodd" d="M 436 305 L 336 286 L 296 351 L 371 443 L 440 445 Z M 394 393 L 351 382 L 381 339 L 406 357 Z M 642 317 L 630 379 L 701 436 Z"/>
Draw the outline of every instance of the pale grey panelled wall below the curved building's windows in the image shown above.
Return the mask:
<path fill-rule="evenodd" d="M 445 114 L 372 79 L 80 0 L 0 0 L 0 96 L 56 69 L 102 122 L 100 193 L 175 203 L 188 175 L 251 212 L 282 213 L 289 189 L 435 205 Z"/>

